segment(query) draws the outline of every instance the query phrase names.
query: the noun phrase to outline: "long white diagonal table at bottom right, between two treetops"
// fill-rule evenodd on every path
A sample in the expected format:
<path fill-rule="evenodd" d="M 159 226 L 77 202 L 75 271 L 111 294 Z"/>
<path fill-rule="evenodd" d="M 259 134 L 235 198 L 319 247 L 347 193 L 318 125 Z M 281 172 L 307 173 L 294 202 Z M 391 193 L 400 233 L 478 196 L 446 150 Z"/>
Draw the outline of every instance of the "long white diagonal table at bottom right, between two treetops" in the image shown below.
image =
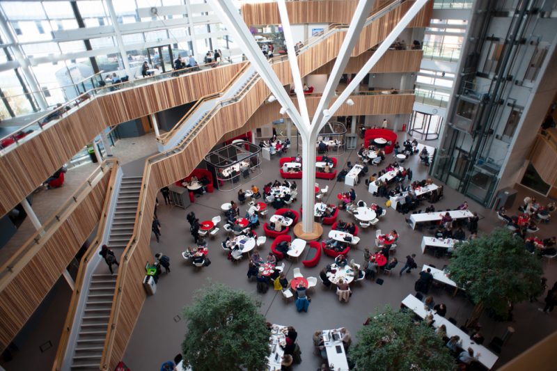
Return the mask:
<path fill-rule="evenodd" d="M 414 295 L 412 294 L 409 294 L 402 301 L 402 304 L 407 308 L 413 310 L 414 313 L 416 313 L 416 315 L 418 315 L 421 318 L 424 318 L 428 314 L 428 311 L 425 310 L 424 308 L 424 304 L 419 299 L 414 297 Z M 462 348 L 464 350 L 471 347 L 474 351 L 474 356 L 478 358 L 478 361 L 480 361 L 482 365 L 484 365 L 488 370 L 493 367 L 493 365 L 497 361 L 497 358 L 499 357 L 497 357 L 495 354 L 490 352 L 483 345 L 479 345 L 473 340 L 471 340 L 470 336 L 467 333 L 459 329 L 454 324 L 450 323 L 448 319 L 445 319 L 444 317 L 441 317 L 440 315 L 436 315 L 436 314 L 433 315 L 433 318 L 434 318 L 433 326 L 437 328 L 444 324 L 447 329 L 448 338 L 455 335 L 459 336 L 460 340 L 462 340 Z M 478 353 L 480 354 L 480 356 L 478 356 Z"/>

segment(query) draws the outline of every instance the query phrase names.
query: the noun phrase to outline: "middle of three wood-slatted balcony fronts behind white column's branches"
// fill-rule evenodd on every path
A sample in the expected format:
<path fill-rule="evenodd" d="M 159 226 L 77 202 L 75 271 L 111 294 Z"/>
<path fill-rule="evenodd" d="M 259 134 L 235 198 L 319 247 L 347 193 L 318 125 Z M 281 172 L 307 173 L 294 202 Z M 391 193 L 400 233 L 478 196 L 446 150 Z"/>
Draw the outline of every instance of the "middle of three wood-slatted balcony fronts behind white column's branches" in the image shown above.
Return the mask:
<path fill-rule="evenodd" d="M 369 73 L 418 72 L 422 54 L 422 50 L 388 50 L 379 58 Z M 360 72 L 372 55 L 373 52 L 365 52 L 359 56 L 353 56 L 348 61 L 344 73 Z M 336 60 L 330 61 L 311 74 L 331 74 L 335 62 Z"/>

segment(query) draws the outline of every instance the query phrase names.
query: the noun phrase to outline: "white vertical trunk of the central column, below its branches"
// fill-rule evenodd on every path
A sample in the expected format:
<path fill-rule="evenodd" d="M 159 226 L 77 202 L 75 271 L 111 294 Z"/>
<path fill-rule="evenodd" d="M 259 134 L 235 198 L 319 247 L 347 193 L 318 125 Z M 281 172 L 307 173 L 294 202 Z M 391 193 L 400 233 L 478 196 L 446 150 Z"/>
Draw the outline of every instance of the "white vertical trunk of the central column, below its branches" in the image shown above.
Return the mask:
<path fill-rule="evenodd" d="M 313 205 L 315 204 L 315 139 L 301 135 L 301 230 L 313 232 Z"/>

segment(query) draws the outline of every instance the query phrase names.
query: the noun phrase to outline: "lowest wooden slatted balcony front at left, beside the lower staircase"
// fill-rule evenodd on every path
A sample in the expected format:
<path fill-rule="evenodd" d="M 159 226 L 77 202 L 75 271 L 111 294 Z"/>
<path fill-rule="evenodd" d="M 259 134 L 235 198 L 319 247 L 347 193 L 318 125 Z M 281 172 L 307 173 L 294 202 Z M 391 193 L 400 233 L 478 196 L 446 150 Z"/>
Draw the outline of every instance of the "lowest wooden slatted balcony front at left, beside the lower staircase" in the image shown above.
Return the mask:
<path fill-rule="evenodd" d="M 100 219 L 111 171 L 0 292 L 0 349 L 5 349 L 68 267 Z"/>

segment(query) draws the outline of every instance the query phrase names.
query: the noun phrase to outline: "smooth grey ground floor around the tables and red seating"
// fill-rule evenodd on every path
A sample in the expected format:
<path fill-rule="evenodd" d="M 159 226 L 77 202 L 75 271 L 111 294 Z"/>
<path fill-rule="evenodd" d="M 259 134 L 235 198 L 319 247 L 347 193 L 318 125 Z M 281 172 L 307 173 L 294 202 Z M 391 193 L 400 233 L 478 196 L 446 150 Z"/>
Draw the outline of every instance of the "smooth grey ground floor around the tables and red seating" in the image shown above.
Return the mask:
<path fill-rule="evenodd" d="M 405 134 L 400 133 L 399 141 L 404 141 Z M 361 139 L 359 140 L 361 142 Z M 427 145 L 435 146 L 435 142 L 428 142 Z M 292 155 L 292 154 L 290 154 Z M 386 162 L 389 162 L 389 157 Z M 355 151 L 348 151 L 345 155 L 338 158 L 339 162 L 337 168 L 340 169 L 347 161 L 357 160 Z M 248 182 L 249 184 L 256 184 L 262 188 L 262 185 L 280 179 L 278 173 L 279 159 L 274 158 L 271 161 L 265 161 L 263 167 L 263 174 Z M 423 179 L 427 177 L 427 168 L 419 163 L 418 157 L 412 157 L 405 163 L 414 172 L 414 180 Z M 383 165 L 384 168 L 385 164 Z M 370 173 L 374 172 L 374 168 L 370 168 Z M 336 204 L 336 196 L 341 191 L 347 191 L 349 186 L 344 183 L 337 183 L 336 180 L 317 180 L 320 188 L 329 185 L 329 195 L 327 200 Z M 299 184 L 299 193 L 301 192 L 301 181 Z M 435 182 L 439 184 L 438 181 Z M 368 193 L 367 187 L 363 182 L 354 187 L 356 190 L 357 199 L 362 199 L 366 203 L 383 203 L 383 198 L 375 198 L 372 194 Z M 520 187 L 519 187 L 520 188 Z M 528 194 L 527 189 L 519 189 L 519 198 L 512 210 L 516 210 L 521 199 Z M 300 195 L 301 196 L 301 195 Z M 292 204 L 292 209 L 298 210 L 301 204 L 301 197 L 298 198 L 297 203 Z M 538 196 L 538 200 L 540 197 Z M 281 292 L 269 290 L 266 294 L 257 294 L 256 281 L 250 282 L 246 277 L 248 262 L 244 258 L 240 265 L 231 263 L 227 260 L 226 255 L 220 246 L 226 233 L 221 229 L 217 240 L 210 239 L 209 257 L 212 261 L 210 267 L 205 267 L 204 271 L 199 269 L 195 271 L 189 263 L 182 258 L 182 251 L 185 251 L 187 246 L 194 246 L 194 239 L 189 233 L 189 223 L 187 223 L 186 215 L 192 211 L 200 219 L 200 221 L 210 220 L 214 216 L 223 216 L 221 211 L 221 204 L 230 202 L 230 200 L 237 200 L 235 192 L 220 192 L 215 191 L 213 194 L 204 194 L 201 198 L 196 198 L 195 203 L 187 208 L 187 210 L 173 207 L 171 205 L 164 205 L 162 196 L 159 195 L 160 205 L 157 210 L 159 221 L 162 223 L 162 237 L 160 243 L 157 243 L 155 236 L 151 238 L 151 249 L 153 255 L 155 253 L 164 253 L 171 258 L 171 273 L 162 274 L 157 284 L 157 292 L 153 296 L 147 297 L 139 319 L 136 322 L 132 338 L 127 346 L 123 356 L 124 363 L 130 370 L 157 370 L 160 365 L 166 361 L 170 361 L 180 353 L 180 344 L 183 336 L 187 331 L 187 323 L 182 317 L 182 308 L 191 303 L 194 292 L 201 289 L 203 285 L 208 285 L 210 282 L 207 278 L 211 278 L 213 282 L 218 281 L 225 283 L 235 290 L 247 290 L 254 292 L 260 296 L 262 301 L 261 311 L 267 317 L 269 322 L 274 324 L 281 324 L 285 326 L 294 326 L 299 333 L 298 342 L 302 351 L 302 363 L 295 365 L 297 371 L 313 371 L 320 365 L 320 357 L 313 354 L 312 334 L 320 329 L 333 329 L 345 326 L 353 338 L 356 332 L 366 321 L 366 317 L 370 313 L 375 313 L 376 308 L 381 310 L 386 304 L 393 307 L 400 306 L 400 302 L 408 294 L 414 294 L 414 282 L 418 278 L 417 272 L 411 274 L 398 275 L 398 271 L 403 267 L 405 256 L 411 253 L 416 253 L 416 262 L 419 267 L 424 264 L 436 265 L 443 267 L 448 264 L 446 259 L 433 258 L 430 253 L 425 255 L 421 254 L 421 239 L 423 233 L 421 230 L 411 230 L 409 225 L 405 223 L 405 215 L 398 214 L 392 208 L 389 208 L 384 221 L 377 224 L 377 228 L 384 232 L 390 230 L 397 230 L 400 235 L 398 251 L 396 257 L 402 260 L 399 263 L 395 274 L 391 277 L 383 276 L 383 285 L 377 285 L 376 281 L 364 281 L 362 287 L 359 285 L 354 287 L 352 291 L 354 294 L 350 298 L 349 303 L 340 303 L 338 296 L 334 290 L 323 290 L 320 285 L 315 287 L 316 292 L 311 294 L 312 301 L 308 308 L 308 313 L 298 313 L 295 303 L 289 301 L 285 303 Z M 484 207 L 474 203 L 473 201 L 465 198 L 462 194 L 458 194 L 452 189 L 445 187 L 445 197 L 435 205 L 437 210 L 441 209 L 454 209 L 460 205 L 464 200 L 468 201 L 471 211 L 476 211 L 480 214 L 481 220 L 479 223 L 480 232 L 489 233 L 493 228 L 501 226 L 496 213 L 492 210 L 486 210 Z M 425 206 L 424 206 L 425 207 Z M 245 213 L 245 205 L 241 206 L 242 214 Z M 269 216 L 274 209 L 269 210 Z M 512 211 L 510 211 L 512 213 Z M 408 217 L 408 215 L 406 215 Z M 350 219 L 350 216 L 345 212 L 340 212 L 339 219 L 345 221 Z M 547 238 L 554 234 L 555 221 L 551 221 L 547 226 L 540 226 L 539 237 Z M 222 225 L 222 223 L 221 223 Z M 330 226 L 324 226 L 323 235 L 327 235 L 331 230 Z M 263 235 L 262 226 L 256 229 L 258 235 Z M 427 232 L 425 232 L 427 235 Z M 292 233 L 290 233 L 292 235 Z M 371 229 L 366 233 L 361 230 L 359 232 L 361 242 L 359 247 L 352 249 L 347 258 L 350 261 L 354 259 L 356 262 L 363 263 L 363 248 L 366 246 L 372 247 L 373 237 L 375 230 Z M 272 239 L 267 239 L 265 250 L 262 250 L 262 255 L 265 257 L 271 250 Z M 303 258 L 304 255 L 301 256 Z M 332 258 L 322 255 L 321 260 L 317 267 L 306 268 L 300 262 L 290 260 L 283 260 L 286 264 L 285 273 L 288 279 L 292 278 L 292 270 L 299 267 L 301 274 L 304 277 L 313 276 L 317 277 L 320 269 L 325 265 L 332 262 Z M 553 285 L 557 281 L 557 262 L 548 264 L 547 259 L 543 260 L 545 269 L 545 276 L 549 278 L 549 284 Z M 439 294 L 438 292 L 431 292 L 437 303 L 446 303 L 448 308 L 447 317 L 454 317 L 458 321 L 458 325 L 464 324 L 467 317 L 469 317 L 472 305 L 465 303 L 463 297 L 456 297 L 453 299 L 448 290 L 444 290 Z M 542 307 L 542 298 L 540 303 L 521 303 L 515 306 L 516 322 L 494 322 L 493 319 L 487 317 L 485 314 L 480 323 L 483 326 L 484 336 L 486 343 L 489 342 L 494 336 L 501 337 L 509 326 L 515 329 L 515 335 L 509 340 L 508 344 L 503 348 L 503 352 L 496 363 L 494 369 L 501 367 L 501 365 L 510 361 L 519 353 L 534 345 L 536 342 L 542 340 L 545 336 L 557 330 L 557 313 L 551 315 L 544 315 L 538 311 Z"/>

